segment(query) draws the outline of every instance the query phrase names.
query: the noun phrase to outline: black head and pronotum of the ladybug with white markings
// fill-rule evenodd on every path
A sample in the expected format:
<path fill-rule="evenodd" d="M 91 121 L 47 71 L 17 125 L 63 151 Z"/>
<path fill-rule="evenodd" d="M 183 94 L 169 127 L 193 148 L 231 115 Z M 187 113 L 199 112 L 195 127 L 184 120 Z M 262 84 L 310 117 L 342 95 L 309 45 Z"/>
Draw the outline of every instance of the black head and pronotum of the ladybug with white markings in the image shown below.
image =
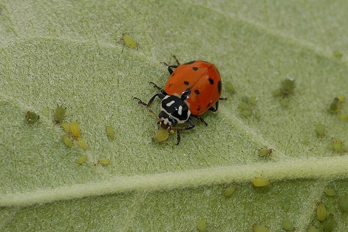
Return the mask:
<path fill-rule="evenodd" d="M 187 104 L 176 96 L 167 95 L 161 101 L 161 112 L 158 114 L 160 125 L 163 128 L 176 126 L 186 122 L 190 117 Z"/>

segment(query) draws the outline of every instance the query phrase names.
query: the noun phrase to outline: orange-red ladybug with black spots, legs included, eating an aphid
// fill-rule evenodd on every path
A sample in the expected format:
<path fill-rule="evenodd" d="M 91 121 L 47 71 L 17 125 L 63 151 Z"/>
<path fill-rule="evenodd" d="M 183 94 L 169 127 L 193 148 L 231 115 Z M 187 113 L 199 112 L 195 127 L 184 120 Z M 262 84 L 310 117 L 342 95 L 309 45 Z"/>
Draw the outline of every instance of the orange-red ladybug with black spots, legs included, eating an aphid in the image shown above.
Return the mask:
<path fill-rule="evenodd" d="M 179 131 L 195 127 L 195 122 L 192 121 L 191 117 L 200 120 L 207 126 L 208 124 L 199 115 L 207 110 L 217 111 L 219 99 L 226 98 L 220 97 L 221 77 L 214 64 L 206 61 L 190 61 L 180 64 L 175 56 L 174 58 L 177 65 L 168 66 L 170 77 L 165 88 L 160 88 L 155 83 L 150 82 L 160 93 L 153 95 L 147 104 L 137 97 L 134 97 L 133 100 L 137 99 L 139 100 L 138 104 L 149 107 L 153 100 L 159 97 L 161 99 L 161 112 L 158 114 L 158 124 L 164 129 L 176 129 L 176 144 L 178 145 L 180 143 Z M 187 123 L 188 126 L 175 127 L 182 123 Z"/>

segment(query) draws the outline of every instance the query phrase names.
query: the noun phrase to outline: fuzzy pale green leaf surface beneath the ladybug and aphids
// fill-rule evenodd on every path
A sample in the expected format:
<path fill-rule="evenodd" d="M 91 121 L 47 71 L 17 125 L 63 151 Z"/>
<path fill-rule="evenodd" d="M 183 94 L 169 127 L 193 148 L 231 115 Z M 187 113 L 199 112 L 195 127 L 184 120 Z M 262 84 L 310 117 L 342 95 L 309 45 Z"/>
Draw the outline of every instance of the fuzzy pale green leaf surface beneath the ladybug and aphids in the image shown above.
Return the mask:
<path fill-rule="evenodd" d="M 348 154 L 327 147 L 331 137 L 348 142 L 347 122 L 327 112 L 348 89 L 346 1 L 0 4 L 0 231 L 197 231 L 199 220 L 207 231 L 276 231 L 285 218 L 297 231 L 322 230 L 317 202 L 336 231 L 348 227 L 337 205 Z M 123 47 L 123 33 L 139 46 Z M 150 81 L 164 87 L 160 62 L 174 64 L 172 55 L 214 63 L 234 87 L 223 86 L 227 100 L 202 115 L 208 126 L 196 121 L 178 146 L 174 135 L 153 142 L 157 119 L 132 100 L 156 93 Z M 272 92 L 285 79 L 296 82 L 282 107 Z M 256 97 L 258 117 L 243 117 L 245 96 Z M 79 123 L 86 151 L 63 143 L 57 104 Z M 39 120 L 27 123 L 27 110 Z M 259 158 L 262 147 L 272 156 Z M 271 184 L 254 187 L 256 176 Z"/>

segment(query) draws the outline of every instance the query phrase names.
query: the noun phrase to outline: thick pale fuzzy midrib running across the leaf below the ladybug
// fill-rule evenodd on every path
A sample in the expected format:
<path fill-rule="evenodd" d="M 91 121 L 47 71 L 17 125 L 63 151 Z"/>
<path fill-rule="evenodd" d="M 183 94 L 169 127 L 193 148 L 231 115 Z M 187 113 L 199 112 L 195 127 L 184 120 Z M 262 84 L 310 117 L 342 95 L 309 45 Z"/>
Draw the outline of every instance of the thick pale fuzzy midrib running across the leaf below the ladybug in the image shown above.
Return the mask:
<path fill-rule="evenodd" d="M 76 184 L 54 189 L 0 196 L 0 207 L 28 206 L 57 200 L 90 197 L 128 191 L 157 191 L 199 185 L 250 182 L 255 176 L 271 181 L 295 178 L 338 179 L 348 176 L 348 155 L 320 159 L 296 159 L 254 163 L 175 173 L 117 176 L 98 183 Z"/>

